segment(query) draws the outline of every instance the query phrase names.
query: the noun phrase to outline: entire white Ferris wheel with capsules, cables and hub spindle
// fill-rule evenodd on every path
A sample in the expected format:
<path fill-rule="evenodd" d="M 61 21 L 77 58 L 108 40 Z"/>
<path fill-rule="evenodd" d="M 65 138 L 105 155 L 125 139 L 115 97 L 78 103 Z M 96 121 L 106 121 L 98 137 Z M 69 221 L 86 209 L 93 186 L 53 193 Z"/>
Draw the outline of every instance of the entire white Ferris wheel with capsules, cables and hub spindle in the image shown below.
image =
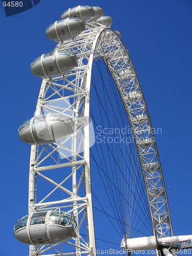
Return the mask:
<path fill-rule="evenodd" d="M 100 7 L 70 8 L 46 29 L 54 51 L 31 63 L 42 83 L 18 129 L 31 144 L 29 212 L 14 225 L 30 256 L 96 255 L 109 232 L 127 254 L 191 247 L 173 234 L 150 116 L 112 22 Z"/>

